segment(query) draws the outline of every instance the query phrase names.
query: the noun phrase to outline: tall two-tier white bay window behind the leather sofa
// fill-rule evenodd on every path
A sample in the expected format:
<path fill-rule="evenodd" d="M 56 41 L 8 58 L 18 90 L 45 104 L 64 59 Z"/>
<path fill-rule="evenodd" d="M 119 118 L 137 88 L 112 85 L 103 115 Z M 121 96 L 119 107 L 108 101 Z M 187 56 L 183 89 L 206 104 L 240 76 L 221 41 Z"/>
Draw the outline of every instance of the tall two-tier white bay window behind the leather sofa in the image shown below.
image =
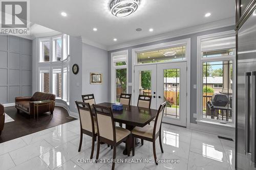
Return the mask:
<path fill-rule="evenodd" d="M 38 44 L 39 91 L 69 102 L 70 36 L 40 38 Z"/>

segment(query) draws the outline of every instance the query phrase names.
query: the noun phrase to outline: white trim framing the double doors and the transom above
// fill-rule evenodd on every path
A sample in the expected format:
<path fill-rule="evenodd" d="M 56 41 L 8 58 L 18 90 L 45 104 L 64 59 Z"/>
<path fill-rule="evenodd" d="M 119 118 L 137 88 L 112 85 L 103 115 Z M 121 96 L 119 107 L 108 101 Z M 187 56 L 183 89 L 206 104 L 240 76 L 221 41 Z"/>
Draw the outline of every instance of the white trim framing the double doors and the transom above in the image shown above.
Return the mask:
<path fill-rule="evenodd" d="M 190 128 L 190 62 L 191 62 L 191 58 L 190 58 L 190 48 L 191 48 L 191 40 L 190 38 L 186 38 L 186 39 L 181 39 L 181 40 L 177 40 L 177 41 L 170 41 L 170 42 L 165 42 L 165 43 L 160 43 L 160 44 L 155 44 L 155 45 L 149 45 L 149 46 L 143 46 L 143 47 L 139 47 L 139 48 L 133 48 L 132 49 L 132 103 L 134 103 L 134 90 L 135 90 L 135 75 L 134 75 L 134 66 L 138 65 L 137 63 L 137 53 L 142 53 L 145 51 L 151 51 L 151 50 L 158 50 L 160 48 L 168 48 L 168 47 L 174 47 L 177 45 L 185 45 L 186 46 L 186 51 L 185 51 L 185 59 L 184 60 L 176 60 L 176 61 L 167 61 L 167 62 L 161 62 L 161 63 L 180 63 L 180 62 L 186 62 L 187 63 L 187 112 L 186 112 L 186 116 L 187 116 L 187 128 Z M 156 63 L 145 63 L 145 64 L 139 64 L 139 65 L 150 65 L 150 64 L 159 64 L 159 62 Z"/>

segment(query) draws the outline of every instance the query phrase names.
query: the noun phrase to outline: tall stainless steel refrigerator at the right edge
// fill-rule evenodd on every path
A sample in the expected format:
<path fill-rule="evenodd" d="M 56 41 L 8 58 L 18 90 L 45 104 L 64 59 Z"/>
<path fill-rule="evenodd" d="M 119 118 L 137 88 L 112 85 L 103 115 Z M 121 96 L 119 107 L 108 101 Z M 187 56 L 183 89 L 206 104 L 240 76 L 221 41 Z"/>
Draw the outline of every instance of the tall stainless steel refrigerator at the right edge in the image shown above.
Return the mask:
<path fill-rule="evenodd" d="M 236 167 L 256 170 L 256 11 L 238 31 Z"/>

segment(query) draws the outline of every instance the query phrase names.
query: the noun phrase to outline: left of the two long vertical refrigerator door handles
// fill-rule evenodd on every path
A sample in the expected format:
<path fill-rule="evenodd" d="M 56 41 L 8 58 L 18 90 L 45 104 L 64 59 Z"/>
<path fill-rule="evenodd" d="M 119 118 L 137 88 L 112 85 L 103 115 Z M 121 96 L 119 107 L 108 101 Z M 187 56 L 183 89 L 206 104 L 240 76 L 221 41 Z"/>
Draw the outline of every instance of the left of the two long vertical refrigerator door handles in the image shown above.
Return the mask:
<path fill-rule="evenodd" d="M 245 155 L 250 153 L 250 76 L 245 73 Z"/>

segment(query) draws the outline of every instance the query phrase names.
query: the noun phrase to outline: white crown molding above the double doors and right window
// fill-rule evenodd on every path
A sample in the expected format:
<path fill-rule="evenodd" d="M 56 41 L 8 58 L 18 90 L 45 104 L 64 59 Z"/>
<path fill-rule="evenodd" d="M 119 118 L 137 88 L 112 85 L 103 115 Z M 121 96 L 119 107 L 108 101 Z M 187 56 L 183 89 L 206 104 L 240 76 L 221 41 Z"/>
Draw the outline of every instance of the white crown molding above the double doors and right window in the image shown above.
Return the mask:
<path fill-rule="evenodd" d="M 184 35 L 189 35 L 189 34 L 195 34 L 195 33 L 203 32 L 203 31 L 214 30 L 214 29 L 224 28 L 224 27 L 228 27 L 228 26 L 234 26 L 235 24 L 236 24 L 235 18 L 231 17 L 231 18 L 227 18 L 227 19 L 223 19 L 223 20 L 219 20 L 219 21 L 215 21 L 215 22 L 206 23 L 203 25 L 198 25 L 198 26 L 180 29 L 180 30 L 176 30 L 176 31 L 170 31 L 168 33 L 159 34 L 156 36 L 141 38 L 138 40 L 124 42 L 124 43 L 120 43 L 117 45 L 110 45 L 107 47 L 107 50 L 108 51 L 117 50 L 120 48 L 139 45 L 139 44 L 143 44 L 143 43 L 149 43 L 149 42 L 159 41 L 159 40 L 163 40 L 163 39 L 174 38 L 174 37 L 179 37 L 179 36 L 184 36 Z"/>

